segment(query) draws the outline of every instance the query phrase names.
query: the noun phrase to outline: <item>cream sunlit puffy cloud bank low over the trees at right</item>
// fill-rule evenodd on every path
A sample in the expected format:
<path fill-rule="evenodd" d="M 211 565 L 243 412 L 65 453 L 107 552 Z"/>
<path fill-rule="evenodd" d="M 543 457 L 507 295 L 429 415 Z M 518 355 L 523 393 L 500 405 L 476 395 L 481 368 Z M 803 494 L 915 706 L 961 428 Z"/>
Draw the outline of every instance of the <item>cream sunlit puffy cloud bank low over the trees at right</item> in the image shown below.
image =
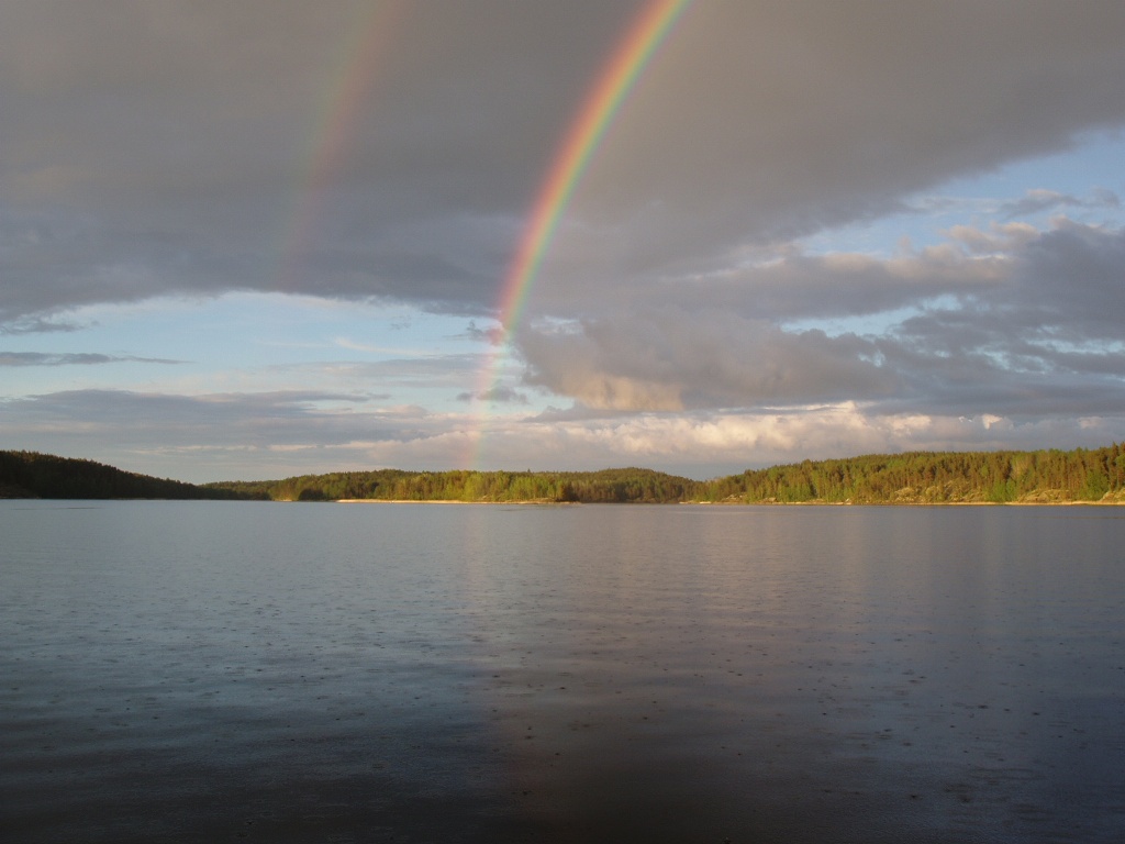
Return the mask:
<path fill-rule="evenodd" d="M 1120 417 L 1020 420 L 979 414 L 883 413 L 861 404 L 784 407 L 771 412 L 600 414 L 594 417 L 490 420 L 483 441 L 467 438 L 484 468 L 598 469 L 641 465 L 708 478 L 804 459 L 910 449 L 988 450 L 1095 447 L 1120 439 Z M 410 442 L 374 443 L 378 459 L 429 466 L 464 456 L 465 432 Z M 456 445 L 454 445 L 456 443 Z"/>

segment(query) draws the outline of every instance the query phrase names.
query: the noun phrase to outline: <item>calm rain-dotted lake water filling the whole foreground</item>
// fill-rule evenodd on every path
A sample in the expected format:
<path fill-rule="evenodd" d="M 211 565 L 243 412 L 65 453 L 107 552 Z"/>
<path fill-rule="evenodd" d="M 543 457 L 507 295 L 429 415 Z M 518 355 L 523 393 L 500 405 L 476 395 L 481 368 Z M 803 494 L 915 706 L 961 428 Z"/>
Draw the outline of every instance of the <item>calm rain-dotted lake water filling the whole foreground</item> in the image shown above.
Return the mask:
<path fill-rule="evenodd" d="M 0 502 L 4 842 L 1118 842 L 1125 512 Z"/>

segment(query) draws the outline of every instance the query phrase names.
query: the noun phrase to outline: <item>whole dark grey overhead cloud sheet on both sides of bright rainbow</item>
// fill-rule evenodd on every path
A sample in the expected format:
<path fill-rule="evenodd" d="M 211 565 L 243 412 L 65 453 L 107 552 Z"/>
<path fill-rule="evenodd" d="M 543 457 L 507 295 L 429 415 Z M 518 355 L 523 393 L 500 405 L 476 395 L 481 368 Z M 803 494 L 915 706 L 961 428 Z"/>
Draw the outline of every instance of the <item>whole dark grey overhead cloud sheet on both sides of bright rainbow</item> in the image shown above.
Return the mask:
<path fill-rule="evenodd" d="M 489 313 L 638 6 L 404 3 L 338 167 L 316 172 L 364 5 L 4 5 L 0 320 L 234 289 Z M 577 278 L 596 309 L 620 277 L 730 266 L 1119 124 L 1123 32 L 1116 2 L 698 2 L 595 156 L 530 307 Z"/>

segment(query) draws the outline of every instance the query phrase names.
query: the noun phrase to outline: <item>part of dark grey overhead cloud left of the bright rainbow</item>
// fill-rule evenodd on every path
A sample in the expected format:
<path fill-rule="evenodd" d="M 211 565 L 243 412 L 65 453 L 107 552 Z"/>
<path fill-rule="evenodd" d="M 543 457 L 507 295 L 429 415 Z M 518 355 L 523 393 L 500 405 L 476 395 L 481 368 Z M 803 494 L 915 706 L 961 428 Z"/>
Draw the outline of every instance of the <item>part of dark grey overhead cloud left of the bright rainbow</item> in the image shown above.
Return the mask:
<path fill-rule="evenodd" d="M 0 318 L 231 289 L 485 313 L 634 5 L 398 6 L 333 113 L 368 3 L 7 5 Z"/>

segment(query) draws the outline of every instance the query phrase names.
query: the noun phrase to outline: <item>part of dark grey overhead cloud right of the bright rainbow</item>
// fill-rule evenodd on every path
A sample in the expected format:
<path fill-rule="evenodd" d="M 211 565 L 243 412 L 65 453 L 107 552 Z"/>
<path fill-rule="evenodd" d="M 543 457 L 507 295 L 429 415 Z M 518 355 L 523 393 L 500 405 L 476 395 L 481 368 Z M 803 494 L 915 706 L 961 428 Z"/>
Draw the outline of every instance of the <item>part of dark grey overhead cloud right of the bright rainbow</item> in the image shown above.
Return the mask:
<path fill-rule="evenodd" d="M 700 3 L 634 91 L 578 210 L 615 227 L 604 255 L 621 267 L 705 264 L 1065 150 L 1125 116 L 1125 9 L 1072 12 Z"/>

